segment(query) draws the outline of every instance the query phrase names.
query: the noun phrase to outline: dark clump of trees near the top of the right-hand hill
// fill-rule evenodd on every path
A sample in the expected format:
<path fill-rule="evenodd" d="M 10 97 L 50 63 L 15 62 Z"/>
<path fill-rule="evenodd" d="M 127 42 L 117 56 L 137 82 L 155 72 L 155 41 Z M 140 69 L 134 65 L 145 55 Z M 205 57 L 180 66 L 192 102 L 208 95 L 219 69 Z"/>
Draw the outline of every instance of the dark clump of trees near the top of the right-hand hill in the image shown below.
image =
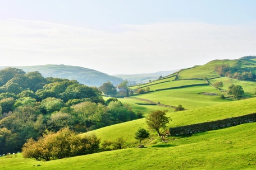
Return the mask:
<path fill-rule="evenodd" d="M 256 79 L 256 75 L 254 73 L 241 70 L 239 63 L 234 66 L 230 66 L 228 64 L 216 65 L 214 69 L 218 74 L 228 78 L 235 78 L 244 81 L 255 81 Z"/>

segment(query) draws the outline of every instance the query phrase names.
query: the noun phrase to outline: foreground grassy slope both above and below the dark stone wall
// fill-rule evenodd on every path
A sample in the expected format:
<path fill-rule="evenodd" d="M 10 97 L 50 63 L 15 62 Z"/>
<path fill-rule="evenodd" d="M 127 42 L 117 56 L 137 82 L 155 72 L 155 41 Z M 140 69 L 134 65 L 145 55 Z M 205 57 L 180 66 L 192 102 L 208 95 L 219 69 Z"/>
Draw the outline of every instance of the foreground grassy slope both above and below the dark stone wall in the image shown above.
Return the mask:
<path fill-rule="evenodd" d="M 205 121 L 206 117 L 208 120 L 215 120 L 255 112 L 255 102 L 256 99 L 252 98 L 218 107 L 172 112 L 168 115 L 173 119 L 171 125 L 191 124 Z M 194 119 L 191 119 L 192 117 Z M 126 136 L 131 139 L 134 138 L 137 127 L 143 125 L 143 122 L 141 119 L 113 125 L 116 126 L 113 131 L 115 136 Z M 127 148 L 49 162 L 24 159 L 18 154 L 17 158 L 0 158 L 0 169 L 256 169 L 255 125 L 255 122 L 237 125 L 194 134 L 188 138 L 171 137 L 166 139 L 167 143 L 157 139 L 155 145 L 142 149 Z M 103 130 L 113 126 L 94 132 L 100 137 L 104 134 L 108 139 L 112 139 L 108 134 L 111 129 Z M 130 131 L 132 134 L 129 133 Z M 37 165 L 40 166 L 36 167 Z"/>

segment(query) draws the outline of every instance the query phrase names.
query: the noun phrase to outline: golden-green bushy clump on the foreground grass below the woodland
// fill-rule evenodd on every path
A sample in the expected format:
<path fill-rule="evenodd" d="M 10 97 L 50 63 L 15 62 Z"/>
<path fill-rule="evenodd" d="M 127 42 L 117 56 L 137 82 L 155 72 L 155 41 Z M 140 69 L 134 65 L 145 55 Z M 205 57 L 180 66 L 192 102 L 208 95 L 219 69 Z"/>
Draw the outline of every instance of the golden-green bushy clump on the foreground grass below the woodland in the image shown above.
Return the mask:
<path fill-rule="evenodd" d="M 25 158 L 52 160 L 98 152 L 100 140 L 95 134 L 76 135 L 68 128 L 46 134 L 37 141 L 29 139 L 22 148 Z"/>

